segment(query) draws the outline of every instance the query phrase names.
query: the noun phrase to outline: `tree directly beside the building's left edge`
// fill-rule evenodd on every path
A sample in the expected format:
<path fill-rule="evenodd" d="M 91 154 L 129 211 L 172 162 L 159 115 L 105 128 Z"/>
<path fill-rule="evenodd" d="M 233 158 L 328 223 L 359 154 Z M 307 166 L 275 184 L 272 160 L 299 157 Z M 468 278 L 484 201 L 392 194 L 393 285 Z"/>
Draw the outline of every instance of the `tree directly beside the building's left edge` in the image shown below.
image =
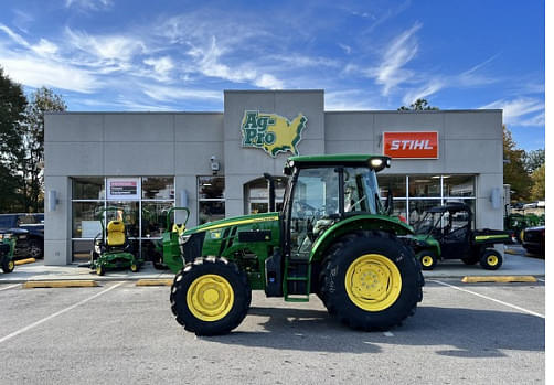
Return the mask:
<path fill-rule="evenodd" d="M 62 96 L 46 87 L 36 89 L 25 109 L 25 121 L 22 126 L 22 157 L 20 170 L 23 174 L 23 192 L 25 212 L 42 211 L 44 193 L 44 113 L 64 111 L 66 109 Z"/>

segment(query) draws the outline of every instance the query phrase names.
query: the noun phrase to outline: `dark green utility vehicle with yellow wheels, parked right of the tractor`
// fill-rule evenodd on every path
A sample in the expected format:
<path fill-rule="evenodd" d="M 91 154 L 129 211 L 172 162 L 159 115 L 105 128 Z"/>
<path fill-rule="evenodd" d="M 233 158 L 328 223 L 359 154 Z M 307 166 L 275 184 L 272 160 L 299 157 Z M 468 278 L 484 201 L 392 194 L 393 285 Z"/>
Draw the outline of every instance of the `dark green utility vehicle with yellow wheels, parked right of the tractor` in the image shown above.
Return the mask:
<path fill-rule="evenodd" d="M 461 259 L 466 265 L 480 263 L 488 270 L 502 266 L 502 255 L 496 244 L 511 242 L 510 232 L 471 229 L 471 208 L 451 202 L 429 208 L 414 225 L 412 246 L 424 270 L 432 270 L 439 259 Z"/>

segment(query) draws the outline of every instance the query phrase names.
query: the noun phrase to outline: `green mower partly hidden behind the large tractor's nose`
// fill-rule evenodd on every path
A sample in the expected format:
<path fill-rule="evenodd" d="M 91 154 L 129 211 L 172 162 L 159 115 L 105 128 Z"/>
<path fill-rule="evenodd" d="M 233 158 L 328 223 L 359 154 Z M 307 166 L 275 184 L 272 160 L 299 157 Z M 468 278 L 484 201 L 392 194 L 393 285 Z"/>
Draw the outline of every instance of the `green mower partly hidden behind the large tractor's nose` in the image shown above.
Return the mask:
<path fill-rule="evenodd" d="M 175 211 L 187 212 L 187 217 L 183 223 L 172 223 L 171 215 Z M 166 214 L 166 229 L 161 239 L 152 239 L 149 243 L 146 254 L 152 260 L 153 267 L 159 270 L 169 268 L 164 260 L 173 260 L 175 257 L 181 256 L 180 239 L 185 231 L 187 222 L 189 221 L 190 211 L 187 207 L 172 207 Z M 145 249 L 142 249 L 145 253 Z"/>

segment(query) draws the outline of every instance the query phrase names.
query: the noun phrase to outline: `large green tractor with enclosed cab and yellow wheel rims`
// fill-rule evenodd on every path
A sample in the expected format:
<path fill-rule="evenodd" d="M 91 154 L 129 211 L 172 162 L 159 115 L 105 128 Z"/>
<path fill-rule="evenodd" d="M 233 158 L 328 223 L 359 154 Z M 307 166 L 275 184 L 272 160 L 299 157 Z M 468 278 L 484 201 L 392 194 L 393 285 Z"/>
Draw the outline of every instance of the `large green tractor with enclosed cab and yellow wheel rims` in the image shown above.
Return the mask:
<path fill-rule="evenodd" d="M 164 254 L 177 272 L 171 310 L 188 331 L 227 333 L 245 318 L 251 290 L 306 302 L 317 295 L 329 313 L 353 329 L 383 330 L 414 314 L 424 278 L 399 235 L 413 229 L 387 215 L 376 172 L 391 159 L 370 154 L 288 159 L 283 210 L 211 222 L 187 229 L 179 256 Z"/>

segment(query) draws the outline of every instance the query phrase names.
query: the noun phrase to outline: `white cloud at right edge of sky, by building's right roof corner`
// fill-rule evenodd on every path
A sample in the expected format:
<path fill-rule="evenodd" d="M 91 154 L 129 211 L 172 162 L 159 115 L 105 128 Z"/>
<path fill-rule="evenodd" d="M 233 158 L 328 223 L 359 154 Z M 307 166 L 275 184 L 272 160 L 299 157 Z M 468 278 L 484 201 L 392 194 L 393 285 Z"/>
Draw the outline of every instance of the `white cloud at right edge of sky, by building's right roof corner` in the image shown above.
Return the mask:
<path fill-rule="evenodd" d="M 501 99 L 479 108 L 502 109 L 503 120 L 507 125 L 544 126 L 544 100 L 540 98 L 520 97 L 512 100 Z"/>

